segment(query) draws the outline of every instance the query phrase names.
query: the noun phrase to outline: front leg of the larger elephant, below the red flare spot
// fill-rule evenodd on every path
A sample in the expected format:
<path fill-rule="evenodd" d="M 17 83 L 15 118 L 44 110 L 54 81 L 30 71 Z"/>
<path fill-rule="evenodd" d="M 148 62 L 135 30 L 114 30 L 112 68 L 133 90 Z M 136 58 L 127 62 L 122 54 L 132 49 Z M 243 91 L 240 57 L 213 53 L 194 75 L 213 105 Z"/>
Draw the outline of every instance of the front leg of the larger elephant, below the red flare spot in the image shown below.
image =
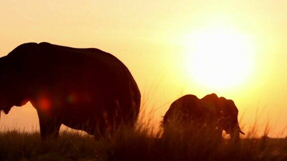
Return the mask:
<path fill-rule="evenodd" d="M 57 139 L 59 136 L 59 130 L 61 123 L 57 120 L 57 117 L 50 117 L 44 114 L 39 114 L 40 134 L 41 140 Z"/>

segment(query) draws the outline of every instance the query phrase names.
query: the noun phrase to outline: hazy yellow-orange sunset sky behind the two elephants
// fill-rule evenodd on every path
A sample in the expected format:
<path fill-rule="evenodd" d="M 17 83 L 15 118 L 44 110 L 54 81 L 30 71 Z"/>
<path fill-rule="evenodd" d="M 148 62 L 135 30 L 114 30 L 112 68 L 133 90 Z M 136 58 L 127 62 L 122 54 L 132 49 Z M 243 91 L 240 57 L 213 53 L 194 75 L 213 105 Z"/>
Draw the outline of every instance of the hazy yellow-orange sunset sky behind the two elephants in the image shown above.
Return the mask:
<path fill-rule="evenodd" d="M 245 129 L 258 109 L 259 128 L 269 121 L 270 133 L 277 136 L 287 126 L 286 10 L 285 0 L 2 0 L 0 56 L 25 42 L 99 48 L 130 69 L 148 102 L 145 106 L 154 108 L 155 122 L 181 95 L 202 97 L 214 92 L 235 101 Z M 209 42 L 210 32 L 223 36 L 213 36 L 215 40 Z M 205 54 L 221 60 L 213 42 L 225 42 L 222 37 L 229 33 L 235 33 L 233 39 L 244 37 L 234 49 L 224 49 L 242 58 L 243 63 L 234 68 L 238 71 L 230 68 L 226 75 L 222 71 L 218 75 L 222 79 L 217 80 L 230 76 L 235 83 L 214 85 L 207 76 L 198 80 L 198 73 L 213 69 L 201 60 L 198 68 L 205 70 L 193 70 L 197 70 L 193 58 L 198 56 L 192 49 L 198 42 L 194 35 L 202 33 L 207 33 L 203 42 L 208 43 L 199 50 L 210 49 Z M 1 116 L 2 127 L 31 129 L 38 124 L 29 103 Z"/>

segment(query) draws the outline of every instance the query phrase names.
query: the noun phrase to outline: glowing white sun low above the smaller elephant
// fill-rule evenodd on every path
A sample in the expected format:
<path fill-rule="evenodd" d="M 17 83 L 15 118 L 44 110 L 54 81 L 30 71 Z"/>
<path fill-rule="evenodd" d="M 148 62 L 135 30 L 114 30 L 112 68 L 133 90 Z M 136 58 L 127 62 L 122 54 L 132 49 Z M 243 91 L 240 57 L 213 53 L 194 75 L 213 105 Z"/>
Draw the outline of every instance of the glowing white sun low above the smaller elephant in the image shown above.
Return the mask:
<path fill-rule="evenodd" d="M 252 71 L 250 37 L 232 28 L 202 29 L 188 38 L 186 67 L 191 79 L 211 88 L 242 84 Z"/>

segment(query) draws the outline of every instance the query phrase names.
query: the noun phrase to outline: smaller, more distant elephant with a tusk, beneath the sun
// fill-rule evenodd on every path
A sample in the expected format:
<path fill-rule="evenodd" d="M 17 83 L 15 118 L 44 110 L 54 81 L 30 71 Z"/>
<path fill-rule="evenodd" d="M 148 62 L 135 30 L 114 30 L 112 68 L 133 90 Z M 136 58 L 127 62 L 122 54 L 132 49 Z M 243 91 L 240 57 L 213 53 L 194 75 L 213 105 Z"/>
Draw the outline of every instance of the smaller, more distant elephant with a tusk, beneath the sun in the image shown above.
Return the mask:
<path fill-rule="evenodd" d="M 215 138 L 221 139 L 223 130 L 238 140 L 241 131 L 238 123 L 238 109 L 231 99 L 218 98 L 215 93 L 199 99 L 192 94 L 184 95 L 175 100 L 163 116 L 162 125 L 166 127 L 176 121 L 183 127 L 196 124 L 214 130 Z M 197 126 L 198 127 L 198 126 Z"/>

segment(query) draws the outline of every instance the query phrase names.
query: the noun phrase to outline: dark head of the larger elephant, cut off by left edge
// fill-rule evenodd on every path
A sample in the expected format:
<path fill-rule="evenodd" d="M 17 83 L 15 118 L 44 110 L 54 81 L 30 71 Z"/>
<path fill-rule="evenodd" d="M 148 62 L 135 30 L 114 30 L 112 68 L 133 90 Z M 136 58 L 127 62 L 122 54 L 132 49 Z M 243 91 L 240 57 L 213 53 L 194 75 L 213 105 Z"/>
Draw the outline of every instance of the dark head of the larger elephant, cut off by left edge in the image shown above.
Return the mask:
<path fill-rule="evenodd" d="M 35 47 L 35 43 L 23 44 L 0 58 L 0 111 L 3 110 L 5 114 L 13 106 L 22 106 L 28 102 L 27 84 L 30 76 L 25 72 L 24 62 Z"/>

